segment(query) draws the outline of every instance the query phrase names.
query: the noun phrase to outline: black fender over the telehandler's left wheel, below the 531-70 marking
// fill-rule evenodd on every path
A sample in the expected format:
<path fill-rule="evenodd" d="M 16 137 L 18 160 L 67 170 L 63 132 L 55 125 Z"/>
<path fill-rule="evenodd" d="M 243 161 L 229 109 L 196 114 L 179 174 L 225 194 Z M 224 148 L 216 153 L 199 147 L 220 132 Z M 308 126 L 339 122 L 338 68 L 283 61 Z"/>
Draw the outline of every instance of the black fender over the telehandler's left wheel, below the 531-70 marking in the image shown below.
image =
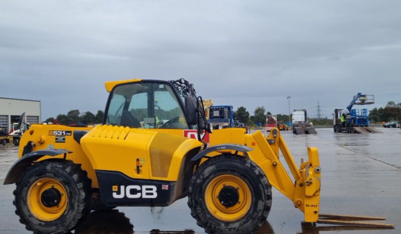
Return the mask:
<path fill-rule="evenodd" d="M 18 159 L 13 166 L 10 168 L 9 172 L 7 173 L 6 179 L 4 180 L 4 184 L 14 184 L 17 182 L 18 178 L 22 174 L 22 172 L 32 164 L 32 162 L 42 158 L 43 156 L 57 156 L 60 154 L 72 153 L 71 151 L 64 150 L 64 149 L 51 149 L 51 150 L 38 150 L 35 152 L 31 152 L 29 154 L 24 155 L 20 159 Z"/>

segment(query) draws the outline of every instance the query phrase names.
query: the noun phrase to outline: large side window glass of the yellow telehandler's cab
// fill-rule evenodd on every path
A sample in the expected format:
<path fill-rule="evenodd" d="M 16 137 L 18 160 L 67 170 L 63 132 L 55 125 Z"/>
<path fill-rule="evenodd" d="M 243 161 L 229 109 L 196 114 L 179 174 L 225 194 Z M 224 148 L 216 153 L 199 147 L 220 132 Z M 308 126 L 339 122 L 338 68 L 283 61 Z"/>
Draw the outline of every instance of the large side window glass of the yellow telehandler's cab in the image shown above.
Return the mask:
<path fill-rule="evenodd" d="M 110 100 L 106 124 L 143 129 L 188 129 L 184 113 L 170 85 L 140 82 L 117 86 Z"/>

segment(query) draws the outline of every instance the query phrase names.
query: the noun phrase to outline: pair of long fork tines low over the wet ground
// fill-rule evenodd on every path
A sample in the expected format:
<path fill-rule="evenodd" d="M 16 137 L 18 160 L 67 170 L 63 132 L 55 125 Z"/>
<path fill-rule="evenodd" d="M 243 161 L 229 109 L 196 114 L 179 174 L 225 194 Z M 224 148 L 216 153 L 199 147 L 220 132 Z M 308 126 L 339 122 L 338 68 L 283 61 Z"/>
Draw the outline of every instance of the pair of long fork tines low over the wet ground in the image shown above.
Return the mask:
<path fill-rule="evenodd" d="M 319 214 L 317 223 L 322 224 L 335 224 L 344 226 L 366 226 L 366 227 L 384 227 L 394 228 L 394 224 L 377 223 L 377 222 L 363 222 L 358 220 L 385 220 L 384 217 L 372 216 L 355 216 L 346 214 Z"/>

